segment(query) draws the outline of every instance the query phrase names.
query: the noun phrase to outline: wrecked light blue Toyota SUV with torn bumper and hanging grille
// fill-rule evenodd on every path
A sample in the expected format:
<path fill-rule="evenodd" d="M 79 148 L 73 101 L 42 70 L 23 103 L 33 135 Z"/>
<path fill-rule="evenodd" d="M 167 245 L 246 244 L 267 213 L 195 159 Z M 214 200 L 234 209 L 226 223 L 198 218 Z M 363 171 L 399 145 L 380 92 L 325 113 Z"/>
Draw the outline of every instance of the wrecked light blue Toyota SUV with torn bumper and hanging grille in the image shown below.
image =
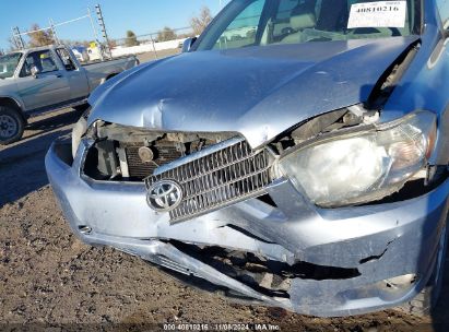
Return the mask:
<path fill-rule="evenodd" d="M 446 3 L 232 1 L 51 146 L 73 232 L 252 304 L 426 312 L 447 248 Z"/>

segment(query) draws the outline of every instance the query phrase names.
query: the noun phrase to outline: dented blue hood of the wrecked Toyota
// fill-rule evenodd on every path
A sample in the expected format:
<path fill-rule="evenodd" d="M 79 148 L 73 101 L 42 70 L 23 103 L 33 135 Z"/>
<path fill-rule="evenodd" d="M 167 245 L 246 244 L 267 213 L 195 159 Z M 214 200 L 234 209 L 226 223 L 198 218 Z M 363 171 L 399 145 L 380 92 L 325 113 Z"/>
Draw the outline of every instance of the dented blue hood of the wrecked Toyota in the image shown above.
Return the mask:
<path fill-rule="evenodd" d="M 416 38 L 182 54 L 106 82 L 90 98 L 88 122 L 238 132 L 256 147 L 310 117 L 366 102 L 386 69 Z"/>

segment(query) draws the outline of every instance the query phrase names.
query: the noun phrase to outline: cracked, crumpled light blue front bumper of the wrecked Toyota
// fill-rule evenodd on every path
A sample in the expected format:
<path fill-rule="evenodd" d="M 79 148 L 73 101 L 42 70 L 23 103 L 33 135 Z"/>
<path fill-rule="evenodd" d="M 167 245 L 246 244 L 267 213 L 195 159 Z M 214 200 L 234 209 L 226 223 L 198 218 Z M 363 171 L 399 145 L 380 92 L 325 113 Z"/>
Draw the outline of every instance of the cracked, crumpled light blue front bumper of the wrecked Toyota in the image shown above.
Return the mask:
<path fill-rule="evenodd" d="M 321 210 L 287 179 L 267 188 L 275 206 L 259 199 L 170 225 L 146 204 L 143 183 L 97 182 L 82 176 L 70 145 L 56 142 L 46 156 L 55 194 L 70 225 L 91 245 L 111 246 L 170 270 L 204 278 L 248 298 L 299 313 L 334 317 L 394 307 L 427 283 L 449 206 L 449 180 L 420 198 L 370 206 Z M 88 229 L 88 232 L 86 232 Z M 356 276 L 292 280 L 290 298 L 270 297 L 182 252 L 167 240 L 220 246 L 293 264 L 358 271 Z M 386 280 L 414 274 L 400 287 Z"/>

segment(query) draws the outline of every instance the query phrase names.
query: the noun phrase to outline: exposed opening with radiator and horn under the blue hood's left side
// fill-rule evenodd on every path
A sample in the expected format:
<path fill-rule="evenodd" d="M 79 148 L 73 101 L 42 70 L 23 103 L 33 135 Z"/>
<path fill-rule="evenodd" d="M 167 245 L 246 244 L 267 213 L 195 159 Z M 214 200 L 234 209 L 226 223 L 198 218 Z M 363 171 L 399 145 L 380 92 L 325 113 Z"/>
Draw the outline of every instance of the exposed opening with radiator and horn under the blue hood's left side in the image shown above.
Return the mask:
<path fill-rule="evenodd" d="M 164 133 L 101 122 L 95 130 L 97 143 L 85 173 L 104 180 L 142 181 L 157 167 L 232 138 L 231 133 Z"/>

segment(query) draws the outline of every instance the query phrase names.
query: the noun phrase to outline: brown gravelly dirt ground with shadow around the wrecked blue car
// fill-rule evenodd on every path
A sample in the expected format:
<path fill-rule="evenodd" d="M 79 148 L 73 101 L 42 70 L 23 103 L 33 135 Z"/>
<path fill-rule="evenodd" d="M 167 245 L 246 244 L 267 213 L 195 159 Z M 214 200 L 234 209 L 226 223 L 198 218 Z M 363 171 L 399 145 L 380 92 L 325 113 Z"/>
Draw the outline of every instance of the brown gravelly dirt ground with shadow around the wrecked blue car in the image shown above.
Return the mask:
<path fill-rule="evenodd" d="M 0 147 L 0 331 L 163 331 L 164 323 L 264 323 L 281 331 L 449 331 L 449 287 L 429 318 L 389 310 L 319 319 L 233 304 L 187 287 L 138 258 L 83 245 L 66 223 L 44 167 L 50 143 L 69 134 L 79 117 L 72 109 L 35 117 L 24 140 Z M 445 277 L 449 285 L 449 275 Z"/>

